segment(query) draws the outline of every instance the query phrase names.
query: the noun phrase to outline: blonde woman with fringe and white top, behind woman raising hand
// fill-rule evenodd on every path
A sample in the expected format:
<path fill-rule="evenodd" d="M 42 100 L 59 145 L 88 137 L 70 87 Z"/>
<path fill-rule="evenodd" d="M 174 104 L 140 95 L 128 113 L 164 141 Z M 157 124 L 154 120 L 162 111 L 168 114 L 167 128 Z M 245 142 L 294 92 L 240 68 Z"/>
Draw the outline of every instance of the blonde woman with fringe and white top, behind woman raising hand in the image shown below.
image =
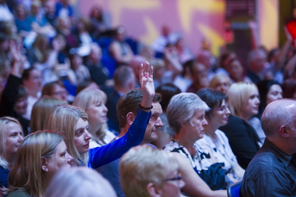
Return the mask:
<path fill-rule="evenodd" d="M 82 90 L 74 99 L 73 105 L 80 107 L 88 115 L 88 132 L 92 135 L 89 148 L 106 145 L 116 137 L 108 130 L 106 100 L 105 92 L 99 89 Z"/>

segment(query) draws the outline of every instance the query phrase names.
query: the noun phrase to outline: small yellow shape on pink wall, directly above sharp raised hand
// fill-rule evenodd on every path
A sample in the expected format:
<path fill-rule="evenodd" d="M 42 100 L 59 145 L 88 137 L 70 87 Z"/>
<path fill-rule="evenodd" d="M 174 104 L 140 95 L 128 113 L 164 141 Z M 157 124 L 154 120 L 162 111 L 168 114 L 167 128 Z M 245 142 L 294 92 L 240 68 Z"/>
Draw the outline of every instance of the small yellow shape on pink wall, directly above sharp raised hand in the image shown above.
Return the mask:
<path fill-rule="evenodd" d="M 143 19 L 146 26 L 146 35 L 140 36 L 139 40 L 147 46 L 150 46 L 150 44 L 159 36 L 159 33 L 149 17 L 145 16 Z"/>

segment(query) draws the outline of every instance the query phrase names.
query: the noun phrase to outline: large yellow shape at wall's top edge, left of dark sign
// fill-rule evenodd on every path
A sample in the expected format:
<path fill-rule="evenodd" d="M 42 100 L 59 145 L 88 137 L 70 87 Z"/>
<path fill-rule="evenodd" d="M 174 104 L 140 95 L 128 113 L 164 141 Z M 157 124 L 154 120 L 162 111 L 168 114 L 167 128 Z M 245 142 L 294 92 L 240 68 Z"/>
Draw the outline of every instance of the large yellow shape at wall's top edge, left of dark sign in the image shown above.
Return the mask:
<path fill-rule="evenodd" d="M 178 0 L 177 6 L 182 27 L 187 33 L 191 31 L 193 12 L 224 13 L 225 2 L 217 0 Z"/>

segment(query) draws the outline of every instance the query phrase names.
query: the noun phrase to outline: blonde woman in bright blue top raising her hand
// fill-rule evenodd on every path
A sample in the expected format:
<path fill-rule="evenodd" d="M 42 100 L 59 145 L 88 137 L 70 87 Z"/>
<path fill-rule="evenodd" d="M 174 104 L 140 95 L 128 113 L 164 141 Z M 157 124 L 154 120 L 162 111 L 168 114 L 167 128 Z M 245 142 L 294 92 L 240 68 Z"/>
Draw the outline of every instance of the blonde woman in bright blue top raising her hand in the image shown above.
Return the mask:
<path fill-rule="evenodd" d="M 142 102 L 134 123 L 120 139 L 105 146 L 89 149 L 92 136 L 88 133 L 88 116 L 80 108 L 72 105 L 56 106 L 48 115 L 45 128 L 55 130 L 65 136 L 69 153 L 73 156 L 73 166 L 98 168 L 122 156 L 132 146 L 142 142 L 150 118 L 154 98 L 153 67 L 146 62 L 140 66 L 140 84 L 143 92 Z"/>

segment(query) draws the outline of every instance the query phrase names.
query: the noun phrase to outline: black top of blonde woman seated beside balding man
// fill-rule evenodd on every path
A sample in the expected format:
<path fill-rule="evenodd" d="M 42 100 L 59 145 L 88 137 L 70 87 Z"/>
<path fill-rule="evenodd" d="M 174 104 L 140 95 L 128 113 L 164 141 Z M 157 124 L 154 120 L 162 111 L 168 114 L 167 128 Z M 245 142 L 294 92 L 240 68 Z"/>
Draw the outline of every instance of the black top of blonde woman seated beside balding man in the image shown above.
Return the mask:
<path fill-rule="evenodd" d="M 260 149 L 260 139 L 251 125 L 241 118 L 230 115 L 228 123 L 219 128 L 228 137 L 229 145 L 238 164 L 244 169 Z"/>

